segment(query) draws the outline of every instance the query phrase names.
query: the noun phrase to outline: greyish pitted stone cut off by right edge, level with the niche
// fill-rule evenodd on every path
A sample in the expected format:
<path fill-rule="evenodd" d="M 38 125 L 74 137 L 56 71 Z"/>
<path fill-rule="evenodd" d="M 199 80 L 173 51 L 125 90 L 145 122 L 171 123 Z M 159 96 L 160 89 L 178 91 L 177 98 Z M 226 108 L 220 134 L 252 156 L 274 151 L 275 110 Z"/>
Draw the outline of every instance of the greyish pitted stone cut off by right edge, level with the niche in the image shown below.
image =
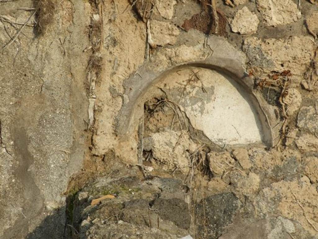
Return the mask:
<path fill-rule="evenodd" d="M 317 119 L 318 119 L 318 112 L 316 107 L 314 106 L 301 107 L 297 117 L 297 126 L 310 133 L 318 134 Z"/>

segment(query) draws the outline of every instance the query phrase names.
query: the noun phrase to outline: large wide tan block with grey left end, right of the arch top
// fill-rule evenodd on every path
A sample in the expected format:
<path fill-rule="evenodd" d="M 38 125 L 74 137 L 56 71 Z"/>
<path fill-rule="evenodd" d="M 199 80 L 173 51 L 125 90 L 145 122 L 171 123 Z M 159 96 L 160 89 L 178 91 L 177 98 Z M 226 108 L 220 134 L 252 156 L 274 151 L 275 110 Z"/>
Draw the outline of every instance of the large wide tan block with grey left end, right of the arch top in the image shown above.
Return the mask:
<path fill-rule="evenodd" d="M 314 43 L 310 37 L 291 37 L 286 39 L 245 39 L 243 50 L 249 64 L 262 72 L 283 72 L 302 75 L 310 62 Z"/>

